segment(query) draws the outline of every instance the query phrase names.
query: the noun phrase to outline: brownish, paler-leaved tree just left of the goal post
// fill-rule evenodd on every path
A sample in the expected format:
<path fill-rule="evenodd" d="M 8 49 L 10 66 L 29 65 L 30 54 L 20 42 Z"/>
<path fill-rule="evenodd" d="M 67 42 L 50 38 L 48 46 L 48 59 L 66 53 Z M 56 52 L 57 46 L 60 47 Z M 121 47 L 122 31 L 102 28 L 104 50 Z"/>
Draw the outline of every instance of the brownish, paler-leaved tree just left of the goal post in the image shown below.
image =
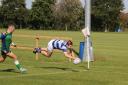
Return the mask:
<path fill-rule="evenodd" d="M 67 28 L 73 30 L 71 28 L 79 24 L 83 8 L 79 0 L 60 0 L 53 7 L 53 14 L 56 19 L 55 21 L 59 22 L 59 25 L 65 26 L 65 30 Z"/>

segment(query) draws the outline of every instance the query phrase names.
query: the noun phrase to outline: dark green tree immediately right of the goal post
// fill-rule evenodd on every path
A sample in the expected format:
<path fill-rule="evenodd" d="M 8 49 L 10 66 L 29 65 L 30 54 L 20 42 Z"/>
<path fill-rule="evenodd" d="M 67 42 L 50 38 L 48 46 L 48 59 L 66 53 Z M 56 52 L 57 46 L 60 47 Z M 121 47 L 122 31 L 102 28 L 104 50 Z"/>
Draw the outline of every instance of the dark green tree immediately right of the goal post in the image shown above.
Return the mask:
<path fill-rule="evenodd" d="M 122 9 L 122 0 L 92 0 L 92 26 L 102 28 L 97 28 L 100 31 L 114 31 Z"/>

